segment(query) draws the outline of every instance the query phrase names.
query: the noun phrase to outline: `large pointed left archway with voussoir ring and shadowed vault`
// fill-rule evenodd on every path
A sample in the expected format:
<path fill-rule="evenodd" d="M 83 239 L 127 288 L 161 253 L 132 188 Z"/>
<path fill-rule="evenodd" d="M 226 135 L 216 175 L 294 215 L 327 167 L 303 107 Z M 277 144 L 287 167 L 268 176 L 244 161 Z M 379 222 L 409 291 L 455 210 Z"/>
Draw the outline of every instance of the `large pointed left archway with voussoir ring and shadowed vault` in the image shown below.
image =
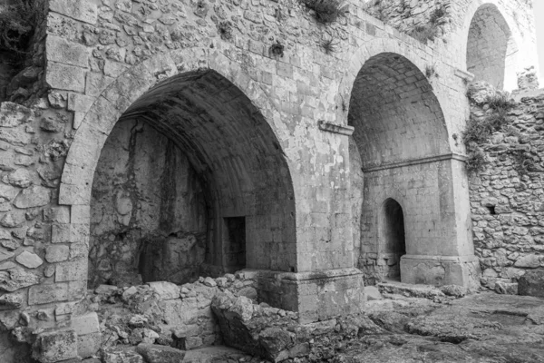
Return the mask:
<path fill-rule="evenodd" d="M 102 147 L 118 121 L 143 123 L 162 135 L 157 142 L 170 142 L 168 147 L 186 158 L 198 176 L 207 210 L 199 215 L 207 220 L 201 267 L 208 274 L 244 267 L 295 271 L 295 195 L 287 158 L 264 116 L 275 118 L 276 111 L 236 64 L 219 66 L 222 74 L 215 71 L 228 62 L 222 54 L 189 57 L 194 70 L 190 64 L 181 67 L 176 57 L 182 54 L 161 55 L 121 74 L 86 114 L 67 157 L 59 196 L 60 203 L 72 206 L 72 221 L 53 227 L 53 239 L 89 239 L 92 180 Z M 137 202 L 128 198 L 125 205 L 136 209 Z M 174 207 L 167 202 L 164 208 Z M 136 218 L 132 211 L 123 212 L 121 219 Z M 164 238 L 183 238 L 169 228 Z M 243 237 L 233 237 L 232 228 Z M 126 237 L 126 231 L 118 232 L 113 240 Z"/>

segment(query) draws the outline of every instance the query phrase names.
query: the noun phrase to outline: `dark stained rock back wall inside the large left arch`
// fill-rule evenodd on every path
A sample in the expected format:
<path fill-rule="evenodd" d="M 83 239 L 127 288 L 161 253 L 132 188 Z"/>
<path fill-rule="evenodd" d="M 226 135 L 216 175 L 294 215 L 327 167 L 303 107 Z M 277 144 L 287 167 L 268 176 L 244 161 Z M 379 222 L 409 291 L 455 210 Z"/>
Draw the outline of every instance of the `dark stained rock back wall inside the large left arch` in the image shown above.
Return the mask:
<path fill-rule="evenodd" d="M 192 282 L 204 262 L 206 201 L 187 157 L 149 124 L 117 123 L 92 185 L 89 286 Z"/>

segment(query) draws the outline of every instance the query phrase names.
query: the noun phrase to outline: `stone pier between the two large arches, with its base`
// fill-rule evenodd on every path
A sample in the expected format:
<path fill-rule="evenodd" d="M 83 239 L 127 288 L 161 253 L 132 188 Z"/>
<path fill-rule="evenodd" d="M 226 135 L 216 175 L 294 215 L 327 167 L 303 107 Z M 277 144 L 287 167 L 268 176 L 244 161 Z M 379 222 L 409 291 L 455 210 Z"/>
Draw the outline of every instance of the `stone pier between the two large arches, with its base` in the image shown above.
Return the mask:
<path fill-rule="evenodd" d="M 334 152 L 318 166 L 331 165 L 316 186 L 305 183 L 308 206 L 296 214 L 296 271 L 258 271 L 259 299 L 297 311 L 308 323 L 359 312 L 364 302 L 363 272 L 354 268 L 352 212 L 349 201 L 348 137 L 351 126 L 320 123 Z M 332 187 L 331 187 L 332 186 Z"/>

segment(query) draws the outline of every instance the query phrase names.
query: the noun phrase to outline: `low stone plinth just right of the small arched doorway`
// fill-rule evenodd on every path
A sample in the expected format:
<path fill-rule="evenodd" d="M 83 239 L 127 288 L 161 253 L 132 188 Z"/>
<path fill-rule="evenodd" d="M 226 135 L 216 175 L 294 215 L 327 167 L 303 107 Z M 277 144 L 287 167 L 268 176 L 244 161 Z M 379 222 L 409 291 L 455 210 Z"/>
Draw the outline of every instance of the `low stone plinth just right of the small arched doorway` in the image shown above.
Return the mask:
<path fill-rule="evenodd" d="M 409 284 L 457 285 L 480 288 L 480 261 L 475 256 L 416 256 L 401 258 L 401 280 Z"/>

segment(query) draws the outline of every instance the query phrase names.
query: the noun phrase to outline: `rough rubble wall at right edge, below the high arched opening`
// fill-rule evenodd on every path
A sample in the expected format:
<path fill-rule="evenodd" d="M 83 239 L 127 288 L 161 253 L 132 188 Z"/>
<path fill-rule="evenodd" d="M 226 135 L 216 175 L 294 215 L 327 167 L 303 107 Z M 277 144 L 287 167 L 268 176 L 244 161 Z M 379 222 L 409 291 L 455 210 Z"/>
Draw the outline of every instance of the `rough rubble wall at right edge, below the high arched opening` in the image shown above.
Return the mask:
<path fill-rule="evenodd" d="M 491 113 L 485 102 L 471 105 L 477 120 Z M 490 289 L 544 266 L 544 97 L 522 99 L 508 115 L 506 128 L 482 145 L 485 169 L 471 177 L 474 244 Z"/>

